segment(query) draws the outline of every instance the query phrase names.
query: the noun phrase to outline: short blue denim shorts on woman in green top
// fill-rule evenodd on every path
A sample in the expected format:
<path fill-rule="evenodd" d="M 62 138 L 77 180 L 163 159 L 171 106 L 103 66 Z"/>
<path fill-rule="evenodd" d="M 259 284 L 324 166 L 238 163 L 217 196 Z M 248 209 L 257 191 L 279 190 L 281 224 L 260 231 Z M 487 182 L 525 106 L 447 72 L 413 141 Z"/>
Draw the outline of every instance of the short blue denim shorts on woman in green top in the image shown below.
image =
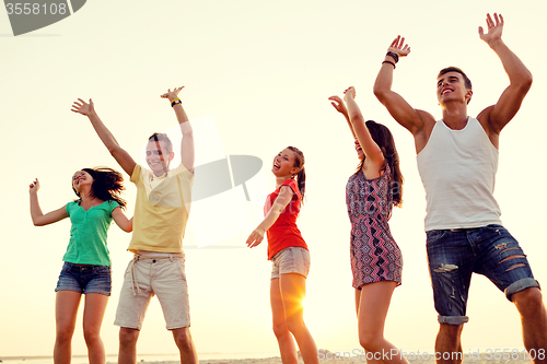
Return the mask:
<path fill-rule="evenodd" d="M 112 269 L 108 266 L 74 265 L 66 261 L 57 281 L 55 292 L 57 291 L 100 293 L 109 296 Z"/>

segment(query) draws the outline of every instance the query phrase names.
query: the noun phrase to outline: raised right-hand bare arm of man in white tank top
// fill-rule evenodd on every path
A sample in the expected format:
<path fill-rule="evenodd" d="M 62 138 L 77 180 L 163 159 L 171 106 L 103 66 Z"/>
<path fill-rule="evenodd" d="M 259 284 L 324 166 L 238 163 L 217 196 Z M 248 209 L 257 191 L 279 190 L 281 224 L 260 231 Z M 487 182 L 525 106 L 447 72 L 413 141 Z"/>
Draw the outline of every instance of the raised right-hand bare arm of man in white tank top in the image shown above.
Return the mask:
<path fill-rule="evenodd" d="M 501 39 L 503 16 L 494 13 L 492 19 L 490 14 L 487 14 L 486 23 L 487 33 L 482 26 L 479 26 L 480 39 L 485 40 L 500 58 L 509 77 L 509 86 L 503 91 L 496 105 L 487 107 L 477 118 L 482 125 L 485 121 L 488 124 L 490 133 L 499 134 L 521 108 L 522 101 L 532 86 L 532 73 Z"/>

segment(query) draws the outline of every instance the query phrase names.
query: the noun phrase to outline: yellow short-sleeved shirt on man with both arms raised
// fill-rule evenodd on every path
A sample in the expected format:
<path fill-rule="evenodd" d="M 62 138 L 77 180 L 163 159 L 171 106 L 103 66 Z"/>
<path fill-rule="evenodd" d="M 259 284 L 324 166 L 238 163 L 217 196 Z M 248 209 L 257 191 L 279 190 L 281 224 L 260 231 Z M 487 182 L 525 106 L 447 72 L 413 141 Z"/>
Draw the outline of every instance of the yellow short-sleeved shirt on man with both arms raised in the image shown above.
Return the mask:
<path fill-rule="evenodd" d="M 194 174 L 181 164 L 156 177 L 136 165 L 131 181 L 137 186 L 130 251 L 183 253 Z"/>

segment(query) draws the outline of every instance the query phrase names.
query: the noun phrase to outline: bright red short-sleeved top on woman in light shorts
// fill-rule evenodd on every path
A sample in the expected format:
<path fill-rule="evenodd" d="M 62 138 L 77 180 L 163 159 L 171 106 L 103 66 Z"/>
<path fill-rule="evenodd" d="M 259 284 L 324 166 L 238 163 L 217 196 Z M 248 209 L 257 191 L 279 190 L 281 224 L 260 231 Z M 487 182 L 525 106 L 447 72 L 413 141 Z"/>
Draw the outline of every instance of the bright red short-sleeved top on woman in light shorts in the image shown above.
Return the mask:
<path fill-rule="evenodd" d="M 271 258 L 282 249 L 291 246 L 299 246 L 307 250 L 307 245 L 296 226 L 296 218 L 300 212 L 300 201 L 302 197 L 294 179 L 289 178 L 284 180 L 272 193 L 268 195 L 266 204 L 264 206 L 264 214 L 266 215 L 268 211 L 270 211 L 282 186 L 289 186 L 293 195 L 291 202 L 289 202 L 267 232 L 268 260 L 271 260 Z"/>

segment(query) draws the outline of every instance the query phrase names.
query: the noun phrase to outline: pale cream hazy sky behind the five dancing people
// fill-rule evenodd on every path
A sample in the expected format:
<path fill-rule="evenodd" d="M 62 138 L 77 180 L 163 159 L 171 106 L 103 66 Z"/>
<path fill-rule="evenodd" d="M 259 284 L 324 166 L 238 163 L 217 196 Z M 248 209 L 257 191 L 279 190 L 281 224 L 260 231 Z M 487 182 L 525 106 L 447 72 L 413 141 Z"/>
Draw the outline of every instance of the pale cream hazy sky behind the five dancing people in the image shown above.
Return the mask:
<path fill-rule="evenodd" d="M 435 77 L 441 68 L 457 66 L 473 81 L 468 114 L 476 116 L 496 103 L 509 84 L 501 62 L 478 36 L 488 12 L 503 14 L 502 38 L 534 77 L 521 110 L 501 133 L 494 196 L 503 224 L 520 240 L 542 283 L 547 279 L 547 247 L 540 237 L 547 218 L 540 202 L 547 177 L 542 106 L 547 52 L 540 45 L 547 2 L 543 0 L 450 4 L 437 0 L 90 0 L 73 15 L 16 37 L 8 15 L 0 13 L 4 165 L 0 355 L 48 355 L 55 340 L 54 290 L 70 223 L 33 226 L 30 183 L 39 178 L 38 197 L 46 212 L 75 198 L 70 188 L 75 171 L 97 165 L 120 169 L 89 120 L 70 111 L 72 102 L 92 97 L 119 144 L 138 158 L 152 132 L 176 127 L 160 94 L 178 85 L 185 86 L 181 98 L 201 140 L 197 153 L 203 156 L 198 155 L 197 164 L 211 161 L 212 155 L 253 155 L 264 161 L 246 211 L 241 206 L 229 210 L 235 197 L 220 195 L 211 197 L 207 208 L 200 209 L 199 202 L 193 207 L 184 247 L 198 352 L 277 352 L 266 245 L 247 249 L 244 243 L 255 224 L 256 207 L 274 189 L 271 161 L 287 145 L 298 146 L 306 157 L 306 201 L 299 218 L 312 256 L 306 325 L 319 349 L 359 348 L 345 203 L 346 181 L 358 161 L 346 121 L 327 99 L 350 85 L 356 86 L 365 118 L 393 131 L 406 179 L 404 207 L 395 209 L 391 220 L 405 261 L 403 285 L 395 290 L 385 336 L 398 348 L 432 351 L 438 324 L 414 141 L 375 99 L 372 85 L 387 46 L 400 34 L 411 52 L 398 62 L 393 89 L 414 107 L 440 118 Z M 199 120 L 209 127 L 200 128 L 206 124 Z M 132 215 L 136 188 L 127 176 L 126 187 L 127 213 Z M 241 197 L 241 191 L 226 193 Z M 247 223 L 230 227 L 226 221 L 240 213 L 246 214 L 242 220 Z M 224 230 L 225 235 L 219 233 Z M 198 247 L 209 236 L 214 244 Z M 102 330 L 107 353 L 118 349 L 118 328 L 113 322 L 131 258 L 126 251 L 129 239 L 116 225 L 110 227 L 113 294 Z M 484 277 L 473 278 L 467 315 L 464 352 L 523 348 L 513 304 Z M 86 352 L 81 312 L 73 352 Z M 138 352 L 176 353 L 155 298 Z"/>

